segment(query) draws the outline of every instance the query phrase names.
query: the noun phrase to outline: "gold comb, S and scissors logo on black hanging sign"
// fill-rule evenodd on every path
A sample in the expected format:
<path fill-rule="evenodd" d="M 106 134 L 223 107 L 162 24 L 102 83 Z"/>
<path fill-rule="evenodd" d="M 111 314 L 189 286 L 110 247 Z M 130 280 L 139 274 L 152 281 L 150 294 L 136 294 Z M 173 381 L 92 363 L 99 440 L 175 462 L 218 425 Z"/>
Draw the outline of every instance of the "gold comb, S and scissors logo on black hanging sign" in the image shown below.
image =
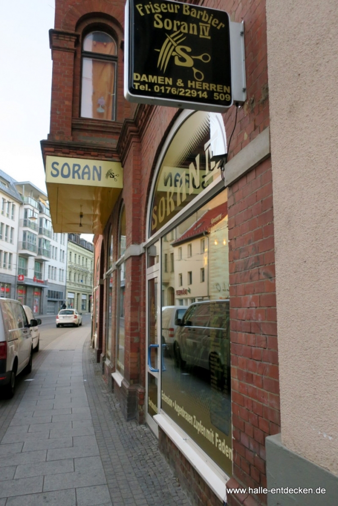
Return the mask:
<path fill-rule="evenodd" d="M 166 33 L 166 37 L 167 38 L 164 41 L 162 48 L 160 50 L 155 50 L 160 53 L 157 67 L 165 72 L 170 58 L 174 57 L 175 65 L 179 67 L 191 67 L 193 69 L 195 79 L 197 81 L 203 81 L 204 73 L 195 68 L 195 60 L 201 60 L 203 63 L 209 63 L 211 60 L 210 55 L 208 55 L 208 53 L 203 53 L 200 56 L 192 56 L 190 54 L 192 49 L 189 46 L 182 46 L 181 43 L 186 37 L 179 30 L 174 32 L 171 36 Z"/>

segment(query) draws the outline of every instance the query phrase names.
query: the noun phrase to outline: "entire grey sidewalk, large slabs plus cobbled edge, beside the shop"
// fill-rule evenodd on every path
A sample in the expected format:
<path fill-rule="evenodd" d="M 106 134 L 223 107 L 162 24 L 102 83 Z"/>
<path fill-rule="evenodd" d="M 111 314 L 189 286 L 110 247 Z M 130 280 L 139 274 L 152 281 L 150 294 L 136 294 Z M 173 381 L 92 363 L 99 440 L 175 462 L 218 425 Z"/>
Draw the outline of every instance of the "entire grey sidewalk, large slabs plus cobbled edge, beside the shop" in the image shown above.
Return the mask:
<path fill-rule="evenodd" d="M 0 506 L 189 506 L 151 431 L 123 419 L 89 343 L 88 328 L 60 336 L 3 405 Z"/>

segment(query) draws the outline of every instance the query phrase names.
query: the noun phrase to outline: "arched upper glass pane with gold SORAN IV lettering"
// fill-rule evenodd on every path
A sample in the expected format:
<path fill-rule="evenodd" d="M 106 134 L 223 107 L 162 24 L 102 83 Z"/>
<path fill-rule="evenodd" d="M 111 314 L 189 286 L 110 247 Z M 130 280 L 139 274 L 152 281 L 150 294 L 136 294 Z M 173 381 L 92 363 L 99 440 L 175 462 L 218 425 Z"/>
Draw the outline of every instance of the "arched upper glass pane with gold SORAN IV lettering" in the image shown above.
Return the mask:
<path fill-rule="evenodd" d="M 163 157 L 156 179 L 150 236 L 220 177 L 217 163 L 211 161 L 211 157 L 226 152 L 225 145 L 220 114 L 198 111 L 180 125 Z"/>

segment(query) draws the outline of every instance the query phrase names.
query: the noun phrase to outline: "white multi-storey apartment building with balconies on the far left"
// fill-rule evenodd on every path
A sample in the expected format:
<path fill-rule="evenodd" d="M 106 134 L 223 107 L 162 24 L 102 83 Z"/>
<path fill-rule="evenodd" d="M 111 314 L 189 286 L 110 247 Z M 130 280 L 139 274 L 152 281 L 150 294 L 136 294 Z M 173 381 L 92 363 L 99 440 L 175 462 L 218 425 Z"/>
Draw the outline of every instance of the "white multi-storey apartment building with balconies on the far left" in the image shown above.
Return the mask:
<path fill-rule="evenodd" d="M 34 314 L 65 301 L 67 234 L 53 232 L 47 195 L 0 171 L 0 290 Z"/>

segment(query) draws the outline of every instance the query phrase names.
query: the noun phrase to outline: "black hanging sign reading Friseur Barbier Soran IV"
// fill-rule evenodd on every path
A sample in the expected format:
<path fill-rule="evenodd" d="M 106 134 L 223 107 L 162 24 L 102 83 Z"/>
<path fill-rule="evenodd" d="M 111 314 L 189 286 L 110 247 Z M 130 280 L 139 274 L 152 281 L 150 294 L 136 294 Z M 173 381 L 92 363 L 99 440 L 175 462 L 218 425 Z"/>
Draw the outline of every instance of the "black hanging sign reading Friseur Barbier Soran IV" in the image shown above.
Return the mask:
<path fill-rule="evenodd" d="M 243 23 L 170 0 L 127 0 L 125 97 L 223 112 L 246 100 Z"/>

